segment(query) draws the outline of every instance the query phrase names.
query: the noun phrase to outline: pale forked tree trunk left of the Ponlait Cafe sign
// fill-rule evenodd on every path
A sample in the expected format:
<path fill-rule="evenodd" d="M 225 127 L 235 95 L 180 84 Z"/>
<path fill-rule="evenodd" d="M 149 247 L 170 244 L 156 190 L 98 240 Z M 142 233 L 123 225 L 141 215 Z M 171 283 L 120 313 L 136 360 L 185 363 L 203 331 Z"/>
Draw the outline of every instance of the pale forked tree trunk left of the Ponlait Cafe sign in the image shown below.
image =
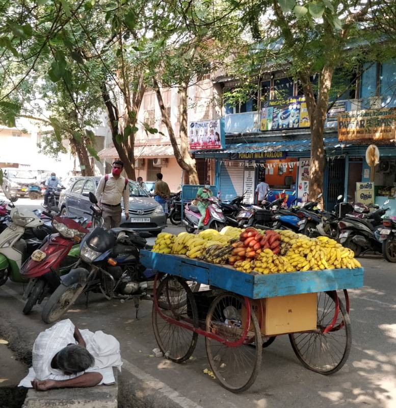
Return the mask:
<path fill-rule="evenodd" d="M 175 133 L 173 131 L 172 123 L 166 112 L 166 108 L 164 105 L 164 100 L 162 98 L 160 87 L 154 78 L 153 78 L 153 83 L 154 83 L 154 89 L 155 89 L 157 101 L 158 101 L 158 104 L 160 105 L 162 120 L 165 123 L 165 126 L 168 130 L 169 139 L 173 147 L 173 153 L 175 155 L 177 164 L 184 171 L 187 172 L 190 184 L 199 184 L 198 173 L 195 168 L 195 159 L 193 159 L 189 153 L 188 133 L 187 133 L 187 86 L 179 88 L 179 95 L 180 95 L 180 105 L 179 105 L 180 148 L 179 148 L 179 146 L 177 145 Z"/>

